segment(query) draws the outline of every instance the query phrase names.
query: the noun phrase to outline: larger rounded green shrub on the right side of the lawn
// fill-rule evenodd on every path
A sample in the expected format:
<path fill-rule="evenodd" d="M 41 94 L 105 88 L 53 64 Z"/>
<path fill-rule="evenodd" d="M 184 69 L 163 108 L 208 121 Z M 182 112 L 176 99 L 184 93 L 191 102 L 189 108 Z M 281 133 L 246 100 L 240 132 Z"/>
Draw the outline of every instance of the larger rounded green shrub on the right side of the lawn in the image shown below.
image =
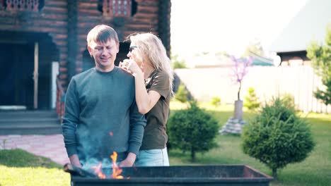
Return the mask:
<path fill-rule="evenodd" d="M 315 146 L 306 120 L 280 98 L 263 106 L 245 125 L 242 140 L 243 152 L 271 168 L 275 179 L 277 169 L 303 161 Z"/>

